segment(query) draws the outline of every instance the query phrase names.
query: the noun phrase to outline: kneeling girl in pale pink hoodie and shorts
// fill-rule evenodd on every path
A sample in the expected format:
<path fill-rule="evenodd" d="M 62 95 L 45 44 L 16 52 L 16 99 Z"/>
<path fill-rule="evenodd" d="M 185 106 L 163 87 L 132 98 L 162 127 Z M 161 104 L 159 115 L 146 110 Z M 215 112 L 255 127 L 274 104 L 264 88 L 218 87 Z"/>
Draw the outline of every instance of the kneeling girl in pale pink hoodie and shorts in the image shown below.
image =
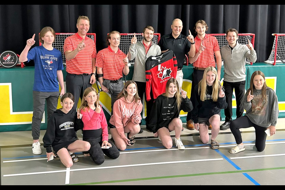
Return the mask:
<path fill-rule="evenodd" d="M 118 95 L 110 118 L 110 133 L 119 150 L 124 151 L 127 145 L 134 145 L 134 135 L 140 132 L 142 110 L 143 104 L 137 93 L 137 84 L 129 80 Z"/>

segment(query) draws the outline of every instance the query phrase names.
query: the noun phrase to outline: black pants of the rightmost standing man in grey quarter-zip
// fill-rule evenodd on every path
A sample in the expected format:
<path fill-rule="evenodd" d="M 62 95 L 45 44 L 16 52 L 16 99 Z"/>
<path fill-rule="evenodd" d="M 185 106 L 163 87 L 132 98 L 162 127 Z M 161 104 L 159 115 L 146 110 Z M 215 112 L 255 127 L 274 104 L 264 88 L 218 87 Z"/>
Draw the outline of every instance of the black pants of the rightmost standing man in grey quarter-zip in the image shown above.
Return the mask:
<path fill-rule="evenodd" d="M 224 81 L 223 87 L 225 89 L 226 102 L 228 104 L 228 107 L 225 109 L 225 122 L 229 122 L 232 121 L 232 93 L 234 89 L 235 99 L 237 101 L 236 115 L 237 118 L 243 116 L 243 97 L 245 94 L 246 81 L 244 80 L 235 83 Z"/>

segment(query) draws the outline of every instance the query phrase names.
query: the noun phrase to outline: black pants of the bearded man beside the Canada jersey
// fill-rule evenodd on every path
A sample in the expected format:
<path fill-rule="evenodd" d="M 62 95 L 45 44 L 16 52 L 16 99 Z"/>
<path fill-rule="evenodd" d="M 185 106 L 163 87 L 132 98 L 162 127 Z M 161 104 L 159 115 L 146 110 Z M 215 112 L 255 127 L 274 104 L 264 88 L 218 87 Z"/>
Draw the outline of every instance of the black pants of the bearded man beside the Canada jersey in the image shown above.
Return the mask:
<path fill-rule="evenodd" d="M 140 96 L 140 99 L 142 99 L 142 104 L 144 104 L 143 102 L 143 94 L 145 94 L 145 100 L 146 100 L 146 92 L 145 92 L 145 86 L 146 86 L 146 83 L 144 82 L 137 82 L 137 93 L 139 94 Z M 150 101 L 145 101 L 146 102 L 146 117 L 145 117 L 145 123 L 146 125 L 149 124 L 149 116 L 151 114 L 151 108 L 152 108 L 152 105 L 153 105 L 153 102 L 154 102 L 154 99 L 153 99 L 153 94 L 152 94 L 152 90 L 150 92 L 150 95 L 151 95 L 151 100 Z M 143 112 L 141 113 L 142 115 L 142 118 L 143 118 Z M 142 122 L 140 122 L 140 125 L 142 124 Z"/>

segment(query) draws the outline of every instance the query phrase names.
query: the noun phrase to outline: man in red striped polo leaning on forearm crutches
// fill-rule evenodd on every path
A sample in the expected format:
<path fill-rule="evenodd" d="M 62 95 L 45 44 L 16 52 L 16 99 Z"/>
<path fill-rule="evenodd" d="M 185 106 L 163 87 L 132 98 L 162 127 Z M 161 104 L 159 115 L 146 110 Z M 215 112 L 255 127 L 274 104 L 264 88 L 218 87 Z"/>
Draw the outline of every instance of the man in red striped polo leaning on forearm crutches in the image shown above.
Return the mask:
<path fill-rule="evenodd" d="M 118 31 L 111 31 L 108 34 L 106 39 L 108 47 L 98 52 L 95 64 L 102 91 L 111 95 L 111 115 L 113 115 L 114 102 L 124 88 L 123 73 L 128 75 L 130 71 L 128 56 L 119 49 L 120 38 Z"/>

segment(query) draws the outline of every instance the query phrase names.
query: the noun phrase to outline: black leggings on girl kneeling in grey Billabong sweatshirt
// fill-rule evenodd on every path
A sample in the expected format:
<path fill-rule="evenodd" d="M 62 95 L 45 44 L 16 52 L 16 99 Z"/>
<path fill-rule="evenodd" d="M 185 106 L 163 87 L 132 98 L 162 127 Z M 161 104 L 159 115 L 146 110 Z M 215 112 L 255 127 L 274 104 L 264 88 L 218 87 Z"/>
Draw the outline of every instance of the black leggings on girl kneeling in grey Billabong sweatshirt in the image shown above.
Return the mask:
<path fill-rule="evenodd" d="M 254 127 L 255 129 L 255 147 L 257 148 L 257 151 L 262 152 L 265 149 L 265 141 L 267 134 L 265 133 L 266 127 L 258 126 L 250 121 L 250 119 L 244 115 L 238 119 L 235 119 L 230 124 L 230 129 L 232 131 L 232 134 L 235 137 L 235 141 L 239 145 L 243 142 L 240 134 L 239 129 L 245 129 L 249 127 Z"/>

